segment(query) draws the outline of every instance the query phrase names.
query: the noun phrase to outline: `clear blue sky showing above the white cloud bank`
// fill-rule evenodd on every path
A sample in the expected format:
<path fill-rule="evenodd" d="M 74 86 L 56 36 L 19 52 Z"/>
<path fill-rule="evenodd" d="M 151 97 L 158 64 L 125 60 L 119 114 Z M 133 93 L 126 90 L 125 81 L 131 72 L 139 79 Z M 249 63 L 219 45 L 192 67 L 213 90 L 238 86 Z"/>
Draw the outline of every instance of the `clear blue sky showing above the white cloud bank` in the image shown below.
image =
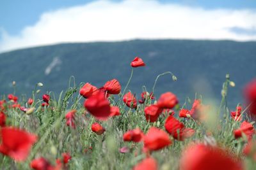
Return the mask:
<path fill-rule="evenodd" d="M 118 2 L 118 0 L 115 0 Z M 188 6 L 200 6 L 205 9 L 256 9 L 255 0 L 159 0 L 161 3 L 177 3 Z M 45 11 L 58 10 L 81 4 L 92 0 L 1 0 L 0 1 L 0 27 L 10 34 L 18 34 L 26 25 L 35 24 Z"/>

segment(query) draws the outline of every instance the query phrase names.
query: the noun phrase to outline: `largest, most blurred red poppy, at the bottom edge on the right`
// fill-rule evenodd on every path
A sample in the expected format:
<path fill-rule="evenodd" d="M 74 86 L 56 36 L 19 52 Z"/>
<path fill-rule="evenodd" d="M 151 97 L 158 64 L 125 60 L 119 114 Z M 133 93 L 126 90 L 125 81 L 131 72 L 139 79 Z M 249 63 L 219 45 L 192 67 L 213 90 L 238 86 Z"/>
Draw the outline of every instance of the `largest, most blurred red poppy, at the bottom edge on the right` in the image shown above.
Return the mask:
<path fill-rule="evenodd" d="M 193 144 L 180 159 L 180 170 L 243 170 L 240 160 L 218 146 Z"/>

